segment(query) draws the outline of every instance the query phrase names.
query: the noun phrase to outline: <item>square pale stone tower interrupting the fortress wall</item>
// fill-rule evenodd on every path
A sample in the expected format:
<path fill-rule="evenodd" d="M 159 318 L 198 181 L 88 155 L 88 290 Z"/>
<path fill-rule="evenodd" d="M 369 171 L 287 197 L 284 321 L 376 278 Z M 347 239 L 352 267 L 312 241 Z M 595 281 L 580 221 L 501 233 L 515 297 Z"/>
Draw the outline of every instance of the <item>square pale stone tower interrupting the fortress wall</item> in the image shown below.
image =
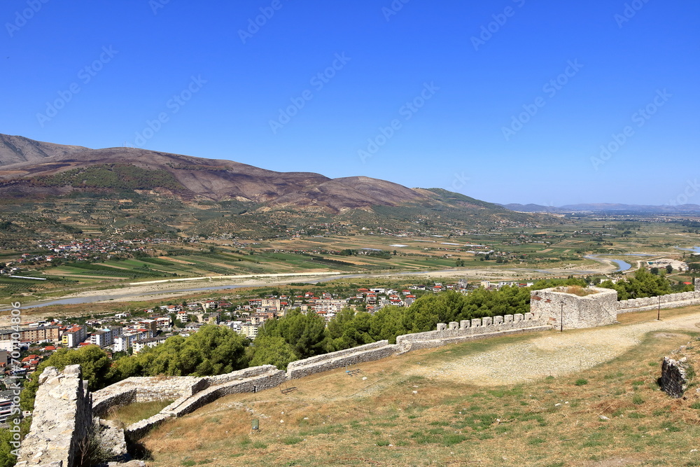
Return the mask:
<path fill-rule="evenodd" d="M 545 288 L 530 294 L 530 311 L 542 316 L 542 319 L 556 328 L 561 327 L 563 310 L 563 328 L 595 328 L 617 322 L 617 292 L 609 288 L 589 287 L 595 291 L 591 295 L 580 297 L 572 293 Z"/>

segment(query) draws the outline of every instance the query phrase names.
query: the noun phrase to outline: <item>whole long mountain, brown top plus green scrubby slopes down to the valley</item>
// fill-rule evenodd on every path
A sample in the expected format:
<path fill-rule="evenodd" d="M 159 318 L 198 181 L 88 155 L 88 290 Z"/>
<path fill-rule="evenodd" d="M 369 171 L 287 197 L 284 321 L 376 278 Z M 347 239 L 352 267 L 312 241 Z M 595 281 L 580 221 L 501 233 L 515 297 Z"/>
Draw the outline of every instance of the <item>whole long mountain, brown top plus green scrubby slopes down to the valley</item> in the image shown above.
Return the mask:
<path fill-rule="evenodd" d="M 41 212 L 78 230 L 148 225 L 154 232 L 255 230 L 263 236 L 278 225 L 341 222 L 401 230 L 416 223 L 470 228 L 542 220 L 441 189 L 274 172 L 138 148 L 89 149 L 3 135 L 0 154 L 0 199 L 8 213 L 33 219 L 25 226 L 35 230 L 41 230 Z"/>

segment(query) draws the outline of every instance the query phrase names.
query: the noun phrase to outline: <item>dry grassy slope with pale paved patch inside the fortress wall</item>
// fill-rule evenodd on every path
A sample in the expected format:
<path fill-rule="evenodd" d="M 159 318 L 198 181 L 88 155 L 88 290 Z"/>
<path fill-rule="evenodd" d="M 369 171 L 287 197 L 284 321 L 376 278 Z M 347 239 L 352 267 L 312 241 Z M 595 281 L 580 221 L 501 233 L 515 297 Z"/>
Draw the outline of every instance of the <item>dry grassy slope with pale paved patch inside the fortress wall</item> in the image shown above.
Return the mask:
<path fill-rule="evenodd" d="M 151 432 L 147 465 L 700 466 L 696 386 L 684 399 L 657 386 L 661 359 L 700 333 L 700 308 L 655 318 L 416 351 L 353 377 L 295 380 L 286 395 L 228 396 Z"/>

